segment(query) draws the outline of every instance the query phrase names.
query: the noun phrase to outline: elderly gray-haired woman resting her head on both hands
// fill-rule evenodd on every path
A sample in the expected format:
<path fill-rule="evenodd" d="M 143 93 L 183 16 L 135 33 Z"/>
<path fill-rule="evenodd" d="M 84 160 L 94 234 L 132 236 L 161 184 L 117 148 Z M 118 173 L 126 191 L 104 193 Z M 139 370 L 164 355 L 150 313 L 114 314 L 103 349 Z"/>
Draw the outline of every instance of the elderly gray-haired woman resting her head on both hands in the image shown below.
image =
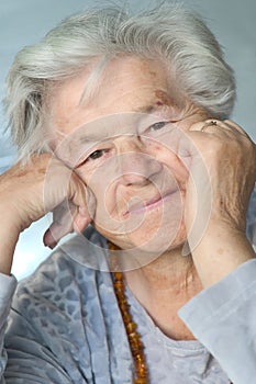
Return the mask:
<path fill-rule="evenodd" d="M 256 149 L 199 16 L 76 14 L 14 59 L 0 178 L 1 383 L 253 383 Z M 54 248 L 19 284 L 19 235 Z M 36 253 L 36 250 L 35 250 Z M 12 307 L 12 309 L 10 309 Z M 7 319 L 10 319 L 5 327 Z"/>

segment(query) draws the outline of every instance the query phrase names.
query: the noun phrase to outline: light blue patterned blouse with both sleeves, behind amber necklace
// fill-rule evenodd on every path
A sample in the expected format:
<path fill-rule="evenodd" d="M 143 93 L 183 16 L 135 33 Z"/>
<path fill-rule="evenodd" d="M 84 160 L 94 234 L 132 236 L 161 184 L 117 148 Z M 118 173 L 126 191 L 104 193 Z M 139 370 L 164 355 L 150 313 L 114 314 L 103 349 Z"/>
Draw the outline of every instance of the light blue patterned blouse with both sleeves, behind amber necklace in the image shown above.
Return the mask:
<path fill-rule="evenodd" d="M 92 228 L 88 238 L 87 247 L 81 236 L 59 247 L 15 294 L 15 279 L 0 276 L 1 384 L 132 383 L 105 240 Z M 197 341 L 166 337 L 126 294 L 152 384 L 227 384 L 227 376 L 234 384 L 256 382 L 256 260 L 180 309 Z"/>

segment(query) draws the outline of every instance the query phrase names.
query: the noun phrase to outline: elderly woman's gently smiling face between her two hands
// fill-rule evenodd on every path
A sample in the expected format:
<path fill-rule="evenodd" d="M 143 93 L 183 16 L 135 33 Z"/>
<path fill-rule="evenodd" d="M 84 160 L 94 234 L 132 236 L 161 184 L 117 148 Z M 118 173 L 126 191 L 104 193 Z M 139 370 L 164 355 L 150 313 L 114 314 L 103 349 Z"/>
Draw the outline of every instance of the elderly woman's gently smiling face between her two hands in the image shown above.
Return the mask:
<path fill-rule="evenodd" d="M 84 102 L 89 75 L 55 88 L 51 118 L 56 155 L 94 194 L 94 227 L 124 249 L 180 246 L 189 159 L 179 156 L 179 144 L 205 114 L 156 61 L 113 59 Z"/>

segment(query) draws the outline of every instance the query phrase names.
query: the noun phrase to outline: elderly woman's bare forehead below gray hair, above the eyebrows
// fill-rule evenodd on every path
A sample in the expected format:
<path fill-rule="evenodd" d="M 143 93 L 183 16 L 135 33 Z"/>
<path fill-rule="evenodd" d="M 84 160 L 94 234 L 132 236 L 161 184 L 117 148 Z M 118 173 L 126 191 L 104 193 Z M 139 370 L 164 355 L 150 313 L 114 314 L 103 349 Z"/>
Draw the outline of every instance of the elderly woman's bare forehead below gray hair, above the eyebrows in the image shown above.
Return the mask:
<path fill-rule="evenodd" d="M 55 86 L 48 99 L 51 116 L 62 128 L 79 113 L 90 118 L 102 114 L 135 112 L 141 104 L 155 102 L 170 104 L 167 74 L 162 65 L 141 58 L 111 60 L 99 78 L 93 97 L 81 102 L 91 68 Z M 79 124 L 76 124 L 78 126 Z"/>

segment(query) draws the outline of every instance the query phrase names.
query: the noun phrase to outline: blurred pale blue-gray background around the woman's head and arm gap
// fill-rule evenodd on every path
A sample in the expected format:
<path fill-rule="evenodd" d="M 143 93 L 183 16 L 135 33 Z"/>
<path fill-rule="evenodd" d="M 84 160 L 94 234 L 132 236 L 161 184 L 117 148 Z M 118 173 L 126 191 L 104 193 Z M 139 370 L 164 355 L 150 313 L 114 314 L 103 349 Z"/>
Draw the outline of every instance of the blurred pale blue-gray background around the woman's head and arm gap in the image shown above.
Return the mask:
<path fill-rule="evenodd" d="M 0 2 L 0 99 L 13 57 L 23 46 L 36 43 L 57 22 L 82 9 L 104 1 L 93 0 L 9 0 Z M 143 9 L 155 2 L 121 1 L 131 9 Z M 237 79 L 237 102 L 232 116 L 256 142 L 256 1 L 183 0 L 182 3 L 203 15 L 224 48 L 227 63 Z M 3 132 L 5 121 L 0 110 L 0 173 L 15 161 L 15 149 Z M 22 279 L 45 259 L 51 250 L 42 242 L 51 217 L 44 217 L 24 231 L 19 240 L 13 274 Z M 4 217 L 0 217 L 4 225 Z"/>

